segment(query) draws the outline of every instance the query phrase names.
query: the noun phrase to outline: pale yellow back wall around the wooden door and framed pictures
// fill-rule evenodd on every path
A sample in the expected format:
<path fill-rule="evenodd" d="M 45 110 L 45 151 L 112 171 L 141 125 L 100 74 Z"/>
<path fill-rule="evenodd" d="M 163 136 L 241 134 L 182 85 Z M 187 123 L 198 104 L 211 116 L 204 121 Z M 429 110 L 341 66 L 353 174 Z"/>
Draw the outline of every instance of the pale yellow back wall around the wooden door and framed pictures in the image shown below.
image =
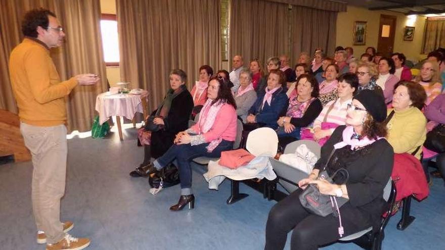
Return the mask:
<path fill-rule="evenodd" d="M 354 56 L 360 57 L 369 46 L 377 48 L 379 36 L 380 14 L 396 16 L 396 28 L 394 39 L 394 52 L 405 54 L 407 59 L 418 61 L 426 57 L 421 55 L 423 30 L 426 18 L 417 16 L 414 24 L 407 24 L 408 17 L 402 13 L 391 11 L 369 11 L 368 9 L 348 6 L 347 12 L 338 13 L 337 18 L 337 46 L 352 46 L 353 27 L 355 21 L 367 21 L 366 45 L 352 46 Z M 416 27 L 413 41 L 404 41 L 403 32 L 405 26 Z"/>

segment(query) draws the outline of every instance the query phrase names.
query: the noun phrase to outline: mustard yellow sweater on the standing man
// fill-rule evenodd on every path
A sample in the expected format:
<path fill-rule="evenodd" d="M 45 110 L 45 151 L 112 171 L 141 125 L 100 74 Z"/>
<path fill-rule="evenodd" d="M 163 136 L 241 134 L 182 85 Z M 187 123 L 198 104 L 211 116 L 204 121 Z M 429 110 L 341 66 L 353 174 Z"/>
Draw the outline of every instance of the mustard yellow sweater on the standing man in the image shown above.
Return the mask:
<path fill-rule="evenodd" d="M 9 60 L 12 89 L 20 120 L 34 126 L 55 126 L 66 122 L 65 97 L 77 85 L 75 78 L 60 81 L 48 47 L 25 38 Z"/>

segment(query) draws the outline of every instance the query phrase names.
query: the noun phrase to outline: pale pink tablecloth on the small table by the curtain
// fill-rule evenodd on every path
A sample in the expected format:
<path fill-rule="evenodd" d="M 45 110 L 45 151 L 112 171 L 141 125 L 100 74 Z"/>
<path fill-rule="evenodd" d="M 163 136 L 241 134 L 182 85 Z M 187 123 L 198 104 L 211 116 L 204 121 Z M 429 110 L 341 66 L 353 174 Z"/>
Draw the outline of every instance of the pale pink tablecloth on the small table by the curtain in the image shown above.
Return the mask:
<path fill-rule="evenodd" d="M 111 94 L 101 93 L 96 97 L 96 111 L 99 112 L 99 123 L 102 124 L 111 116 L 123 116 L 133 119 L 136 112 L 143 113 L 141 96 L 144 94 Z"/>

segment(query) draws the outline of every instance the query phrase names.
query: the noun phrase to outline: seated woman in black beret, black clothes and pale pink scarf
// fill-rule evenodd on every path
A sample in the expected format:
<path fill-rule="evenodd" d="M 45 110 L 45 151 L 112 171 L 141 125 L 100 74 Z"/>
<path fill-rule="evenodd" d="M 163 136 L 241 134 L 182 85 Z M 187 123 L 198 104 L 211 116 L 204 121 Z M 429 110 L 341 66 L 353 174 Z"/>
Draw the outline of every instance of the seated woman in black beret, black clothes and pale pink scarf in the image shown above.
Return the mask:
<path fill-rule="evenodd" d="M 339 208 L 343 236 L 371 226 L 373 229 L 380 227 L 382 210 L 386 206 L 383 189 L 391 176 L 394 155 L 391 145 L 384 139 L 384 99 L 364 90 L 354 97 L 347 114 L 347 126 L 339 126 L 321 148 L 321 158 L 313 172 L 298 182 L 301 189 L 277 203 L 269 212 L 265 250 L 283 249 L 291 230 L 292 250 L 318 249 L 342 237 L 338 218 L 311 214 L 301 206 L 299 195 L 309 183 L 316 184 L 322 194 L 348 199 Z M 317 180 L 325 167 L 329 175 L 344 168 L 349 178 L 341 185 L 338 183 L 343 183 L 344 178 L 334 178 L 333 184 Z"/>

